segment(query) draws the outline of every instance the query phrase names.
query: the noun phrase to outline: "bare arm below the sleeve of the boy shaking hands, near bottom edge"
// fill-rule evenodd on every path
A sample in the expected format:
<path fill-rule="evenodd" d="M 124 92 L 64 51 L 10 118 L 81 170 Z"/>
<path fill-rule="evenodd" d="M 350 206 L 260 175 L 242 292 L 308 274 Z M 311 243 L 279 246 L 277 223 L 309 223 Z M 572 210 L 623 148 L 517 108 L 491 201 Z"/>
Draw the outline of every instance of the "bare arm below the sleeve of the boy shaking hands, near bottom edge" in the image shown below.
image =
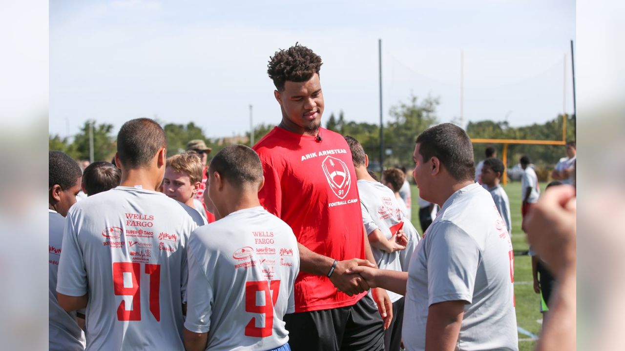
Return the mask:
<path fill-rule="evenodd" d="M 464 315 L 462 300 L 432 304 L 427 312 L 426 351 L 454 351 Z"/>

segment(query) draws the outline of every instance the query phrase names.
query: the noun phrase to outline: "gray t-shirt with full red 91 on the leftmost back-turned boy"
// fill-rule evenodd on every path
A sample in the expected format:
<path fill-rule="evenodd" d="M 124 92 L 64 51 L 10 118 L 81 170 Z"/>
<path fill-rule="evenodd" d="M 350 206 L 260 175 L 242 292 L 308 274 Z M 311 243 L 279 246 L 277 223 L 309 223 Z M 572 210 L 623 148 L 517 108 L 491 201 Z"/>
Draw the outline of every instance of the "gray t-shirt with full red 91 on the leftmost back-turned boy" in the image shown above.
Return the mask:
<path fill-rule="evenodd" d="M 202 225 L 161 192 L 116 187 L 69 209 L 56 290 L 89 294 L 87 350 L 182 350 L 187 242 Z"/>

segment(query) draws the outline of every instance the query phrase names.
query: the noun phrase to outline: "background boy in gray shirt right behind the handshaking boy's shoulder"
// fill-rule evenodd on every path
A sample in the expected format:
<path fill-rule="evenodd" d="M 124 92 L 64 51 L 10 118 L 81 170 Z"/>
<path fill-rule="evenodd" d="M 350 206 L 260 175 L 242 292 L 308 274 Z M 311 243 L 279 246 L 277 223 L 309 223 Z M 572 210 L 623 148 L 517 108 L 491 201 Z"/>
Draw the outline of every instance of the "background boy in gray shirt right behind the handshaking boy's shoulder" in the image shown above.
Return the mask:
<path fill-rule="evenodd" d="M 512 235 L 512 220 L 510 219 L 510 200 L 508 200 L 506 190 L 499 185 L 501 175 L 506 171 L 506 167 L 500 159 L 490 157 L 482 164 L 482 186 L 491 193 L 492 200 L 497 206 L 501 219 L 506 222 L 508 234 Z"/>

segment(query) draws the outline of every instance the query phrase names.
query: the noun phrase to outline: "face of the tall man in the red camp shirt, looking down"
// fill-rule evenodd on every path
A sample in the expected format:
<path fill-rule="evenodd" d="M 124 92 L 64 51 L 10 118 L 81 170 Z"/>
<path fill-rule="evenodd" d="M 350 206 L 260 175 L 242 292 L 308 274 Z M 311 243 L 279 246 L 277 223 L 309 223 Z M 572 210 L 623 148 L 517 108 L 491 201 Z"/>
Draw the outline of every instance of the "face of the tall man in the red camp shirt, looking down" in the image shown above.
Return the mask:
<path fill-rule="evenodd" d="M 284 90 L 276 92 L 276 99 L 287 127 L 298 134 L 316 135 L 324 107 L 319 74 L 306 82 L 284 82 Z"/>

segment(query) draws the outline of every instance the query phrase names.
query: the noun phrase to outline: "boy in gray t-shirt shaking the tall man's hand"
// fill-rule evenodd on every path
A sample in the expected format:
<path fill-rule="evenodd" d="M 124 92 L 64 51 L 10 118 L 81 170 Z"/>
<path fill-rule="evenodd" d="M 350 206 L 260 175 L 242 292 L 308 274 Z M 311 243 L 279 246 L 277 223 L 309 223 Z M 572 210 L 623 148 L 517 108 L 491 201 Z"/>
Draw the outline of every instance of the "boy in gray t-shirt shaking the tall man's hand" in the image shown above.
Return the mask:
<path fill-rule="evenodd" d="M 473 147 L 460 127 L 417 137 L 419 194 L 441 205 L 409 271 L 349 269 L 369 286 L 406 294 L 407 350 L 518 350 L 512 244 L 491 195 L 473 181 Z"/>

